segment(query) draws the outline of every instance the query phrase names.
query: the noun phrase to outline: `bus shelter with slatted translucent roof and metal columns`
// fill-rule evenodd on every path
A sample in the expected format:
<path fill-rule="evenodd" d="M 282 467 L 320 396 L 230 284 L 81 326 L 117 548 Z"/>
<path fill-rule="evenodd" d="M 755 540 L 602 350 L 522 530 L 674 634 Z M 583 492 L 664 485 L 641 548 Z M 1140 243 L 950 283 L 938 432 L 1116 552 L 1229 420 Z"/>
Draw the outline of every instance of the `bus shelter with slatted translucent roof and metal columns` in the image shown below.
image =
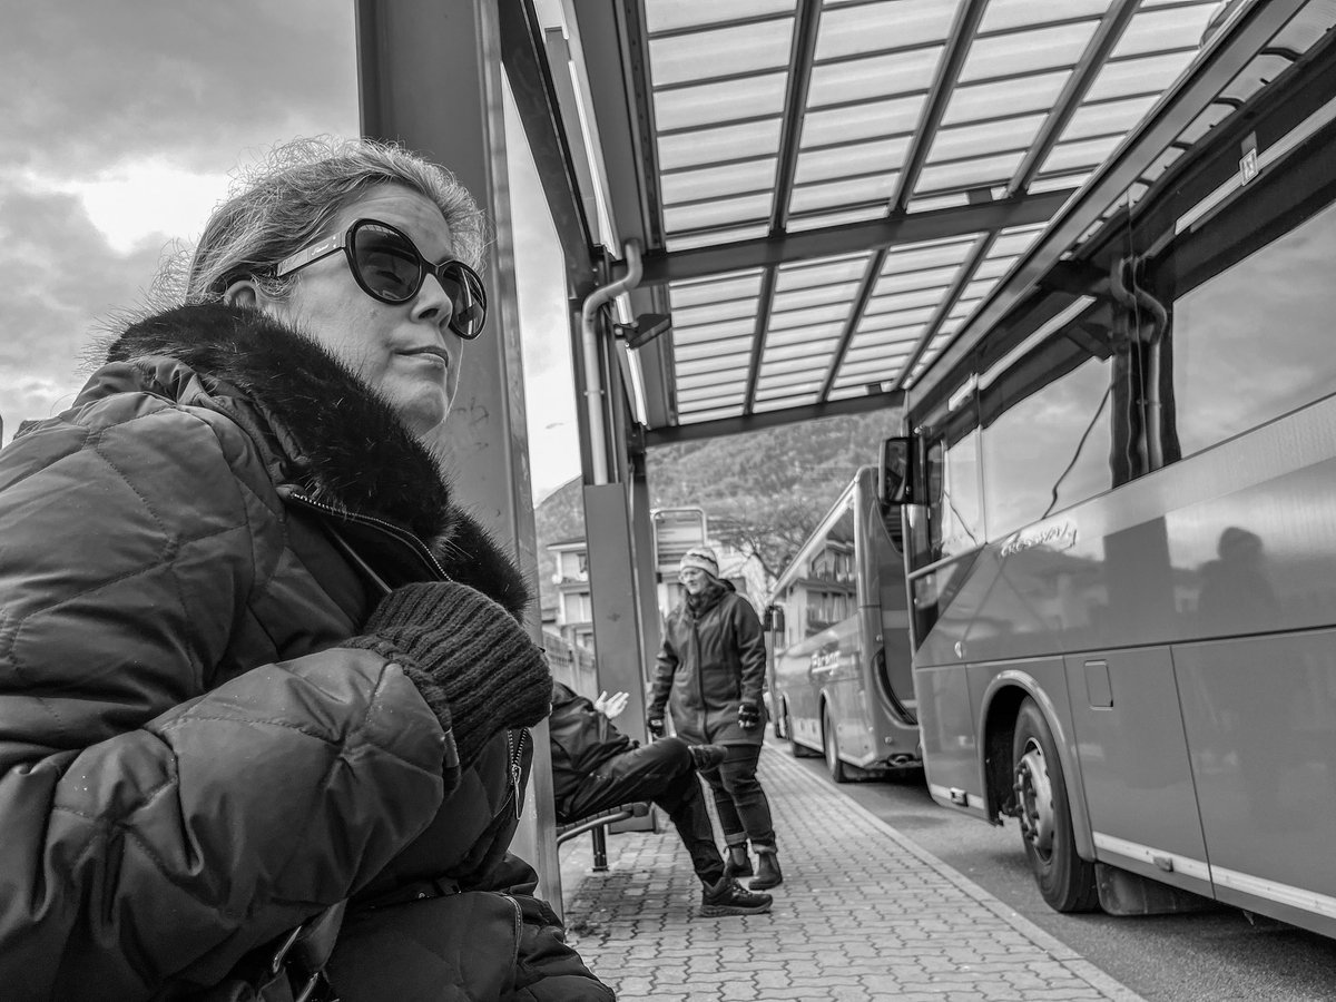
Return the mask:
<path fill-rule="evenodd" d="M 1309 7 L 358 0 L 362 131 L 450 166 L 494 220 L 500 334 L 470 350 L 457 489 L 532 573 L 508 102 L 522 122 L 562 248 L 624 729 L 644 737 L 659 635 L 647 450 L 922 391 L 1232 114 L 1245 68 L 1297 57 L 1283 29 Z M 554 875 L 545 774 L 529 852 Z"/>

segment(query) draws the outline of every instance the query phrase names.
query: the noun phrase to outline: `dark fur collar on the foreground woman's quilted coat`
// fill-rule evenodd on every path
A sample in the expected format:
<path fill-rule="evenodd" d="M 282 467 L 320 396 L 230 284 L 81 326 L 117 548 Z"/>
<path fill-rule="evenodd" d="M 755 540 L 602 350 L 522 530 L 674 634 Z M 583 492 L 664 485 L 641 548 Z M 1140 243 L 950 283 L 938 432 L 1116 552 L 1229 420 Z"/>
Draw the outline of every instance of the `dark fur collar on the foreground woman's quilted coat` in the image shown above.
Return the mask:
<path fill-rule="evenodd" d="M 163 359 L 188 374 L 172 371 L 174 386 L 162 386 Z M 409 530 L 452 578 L 522 616 L 529 587 L 452 501 L 442 464 L 383 398 L 310 338 L 254 309 L 180 306 L 134 323 L 106 361 L 132 363 L 178 398 L 198 377 L 208 401 L 258 440 L 275 484 Z"/>

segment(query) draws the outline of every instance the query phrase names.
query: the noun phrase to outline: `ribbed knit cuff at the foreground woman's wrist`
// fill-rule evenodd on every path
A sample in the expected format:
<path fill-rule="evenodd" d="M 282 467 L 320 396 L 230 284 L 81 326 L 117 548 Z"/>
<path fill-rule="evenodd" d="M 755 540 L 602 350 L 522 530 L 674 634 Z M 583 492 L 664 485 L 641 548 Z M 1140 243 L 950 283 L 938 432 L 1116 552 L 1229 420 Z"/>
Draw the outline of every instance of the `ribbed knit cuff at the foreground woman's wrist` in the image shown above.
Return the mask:
<path fill-rule="evenodd" d="M 532 727 L 552 709 L 552 673 L 504 608 L 456 581 L 421 581 L 381 600 L 362 636 L 345 647 L 398 661 L 432 707 L 458 767 L 505 727 Z M 449 743 L 446 767 L 452 767 Z"/>

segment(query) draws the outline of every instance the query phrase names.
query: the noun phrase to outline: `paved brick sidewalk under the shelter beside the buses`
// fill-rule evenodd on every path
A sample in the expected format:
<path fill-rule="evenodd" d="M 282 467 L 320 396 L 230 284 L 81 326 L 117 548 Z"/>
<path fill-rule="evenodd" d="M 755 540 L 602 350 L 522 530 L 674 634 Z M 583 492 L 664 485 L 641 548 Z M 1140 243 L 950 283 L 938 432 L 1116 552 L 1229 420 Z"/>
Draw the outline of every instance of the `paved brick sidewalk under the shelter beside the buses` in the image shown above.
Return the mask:
<path fill-rule="evenodd" d="M 574 871 L 570 941 L 623 1002 L 1140 999 L 787 754 L 767 745 L 760 776 L 784 868 L 771 914 L 700 918 L 671 826 Z"/>

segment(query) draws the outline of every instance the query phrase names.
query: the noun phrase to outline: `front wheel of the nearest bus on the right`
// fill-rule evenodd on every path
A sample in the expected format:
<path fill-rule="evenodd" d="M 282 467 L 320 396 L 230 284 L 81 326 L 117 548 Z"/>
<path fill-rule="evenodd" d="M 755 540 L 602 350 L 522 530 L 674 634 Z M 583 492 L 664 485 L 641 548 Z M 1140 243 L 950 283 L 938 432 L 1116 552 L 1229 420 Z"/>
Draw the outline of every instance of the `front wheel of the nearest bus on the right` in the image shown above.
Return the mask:
<path fill-rule="evenodd" d="M 1017 816 L 1039 894 L 1054 911 L 1092 911 L 1098 903 L 1094 863 L 1077 855 L 1058 748 L 1038 704 L 1026 699 L 1011 741 Z"/>

